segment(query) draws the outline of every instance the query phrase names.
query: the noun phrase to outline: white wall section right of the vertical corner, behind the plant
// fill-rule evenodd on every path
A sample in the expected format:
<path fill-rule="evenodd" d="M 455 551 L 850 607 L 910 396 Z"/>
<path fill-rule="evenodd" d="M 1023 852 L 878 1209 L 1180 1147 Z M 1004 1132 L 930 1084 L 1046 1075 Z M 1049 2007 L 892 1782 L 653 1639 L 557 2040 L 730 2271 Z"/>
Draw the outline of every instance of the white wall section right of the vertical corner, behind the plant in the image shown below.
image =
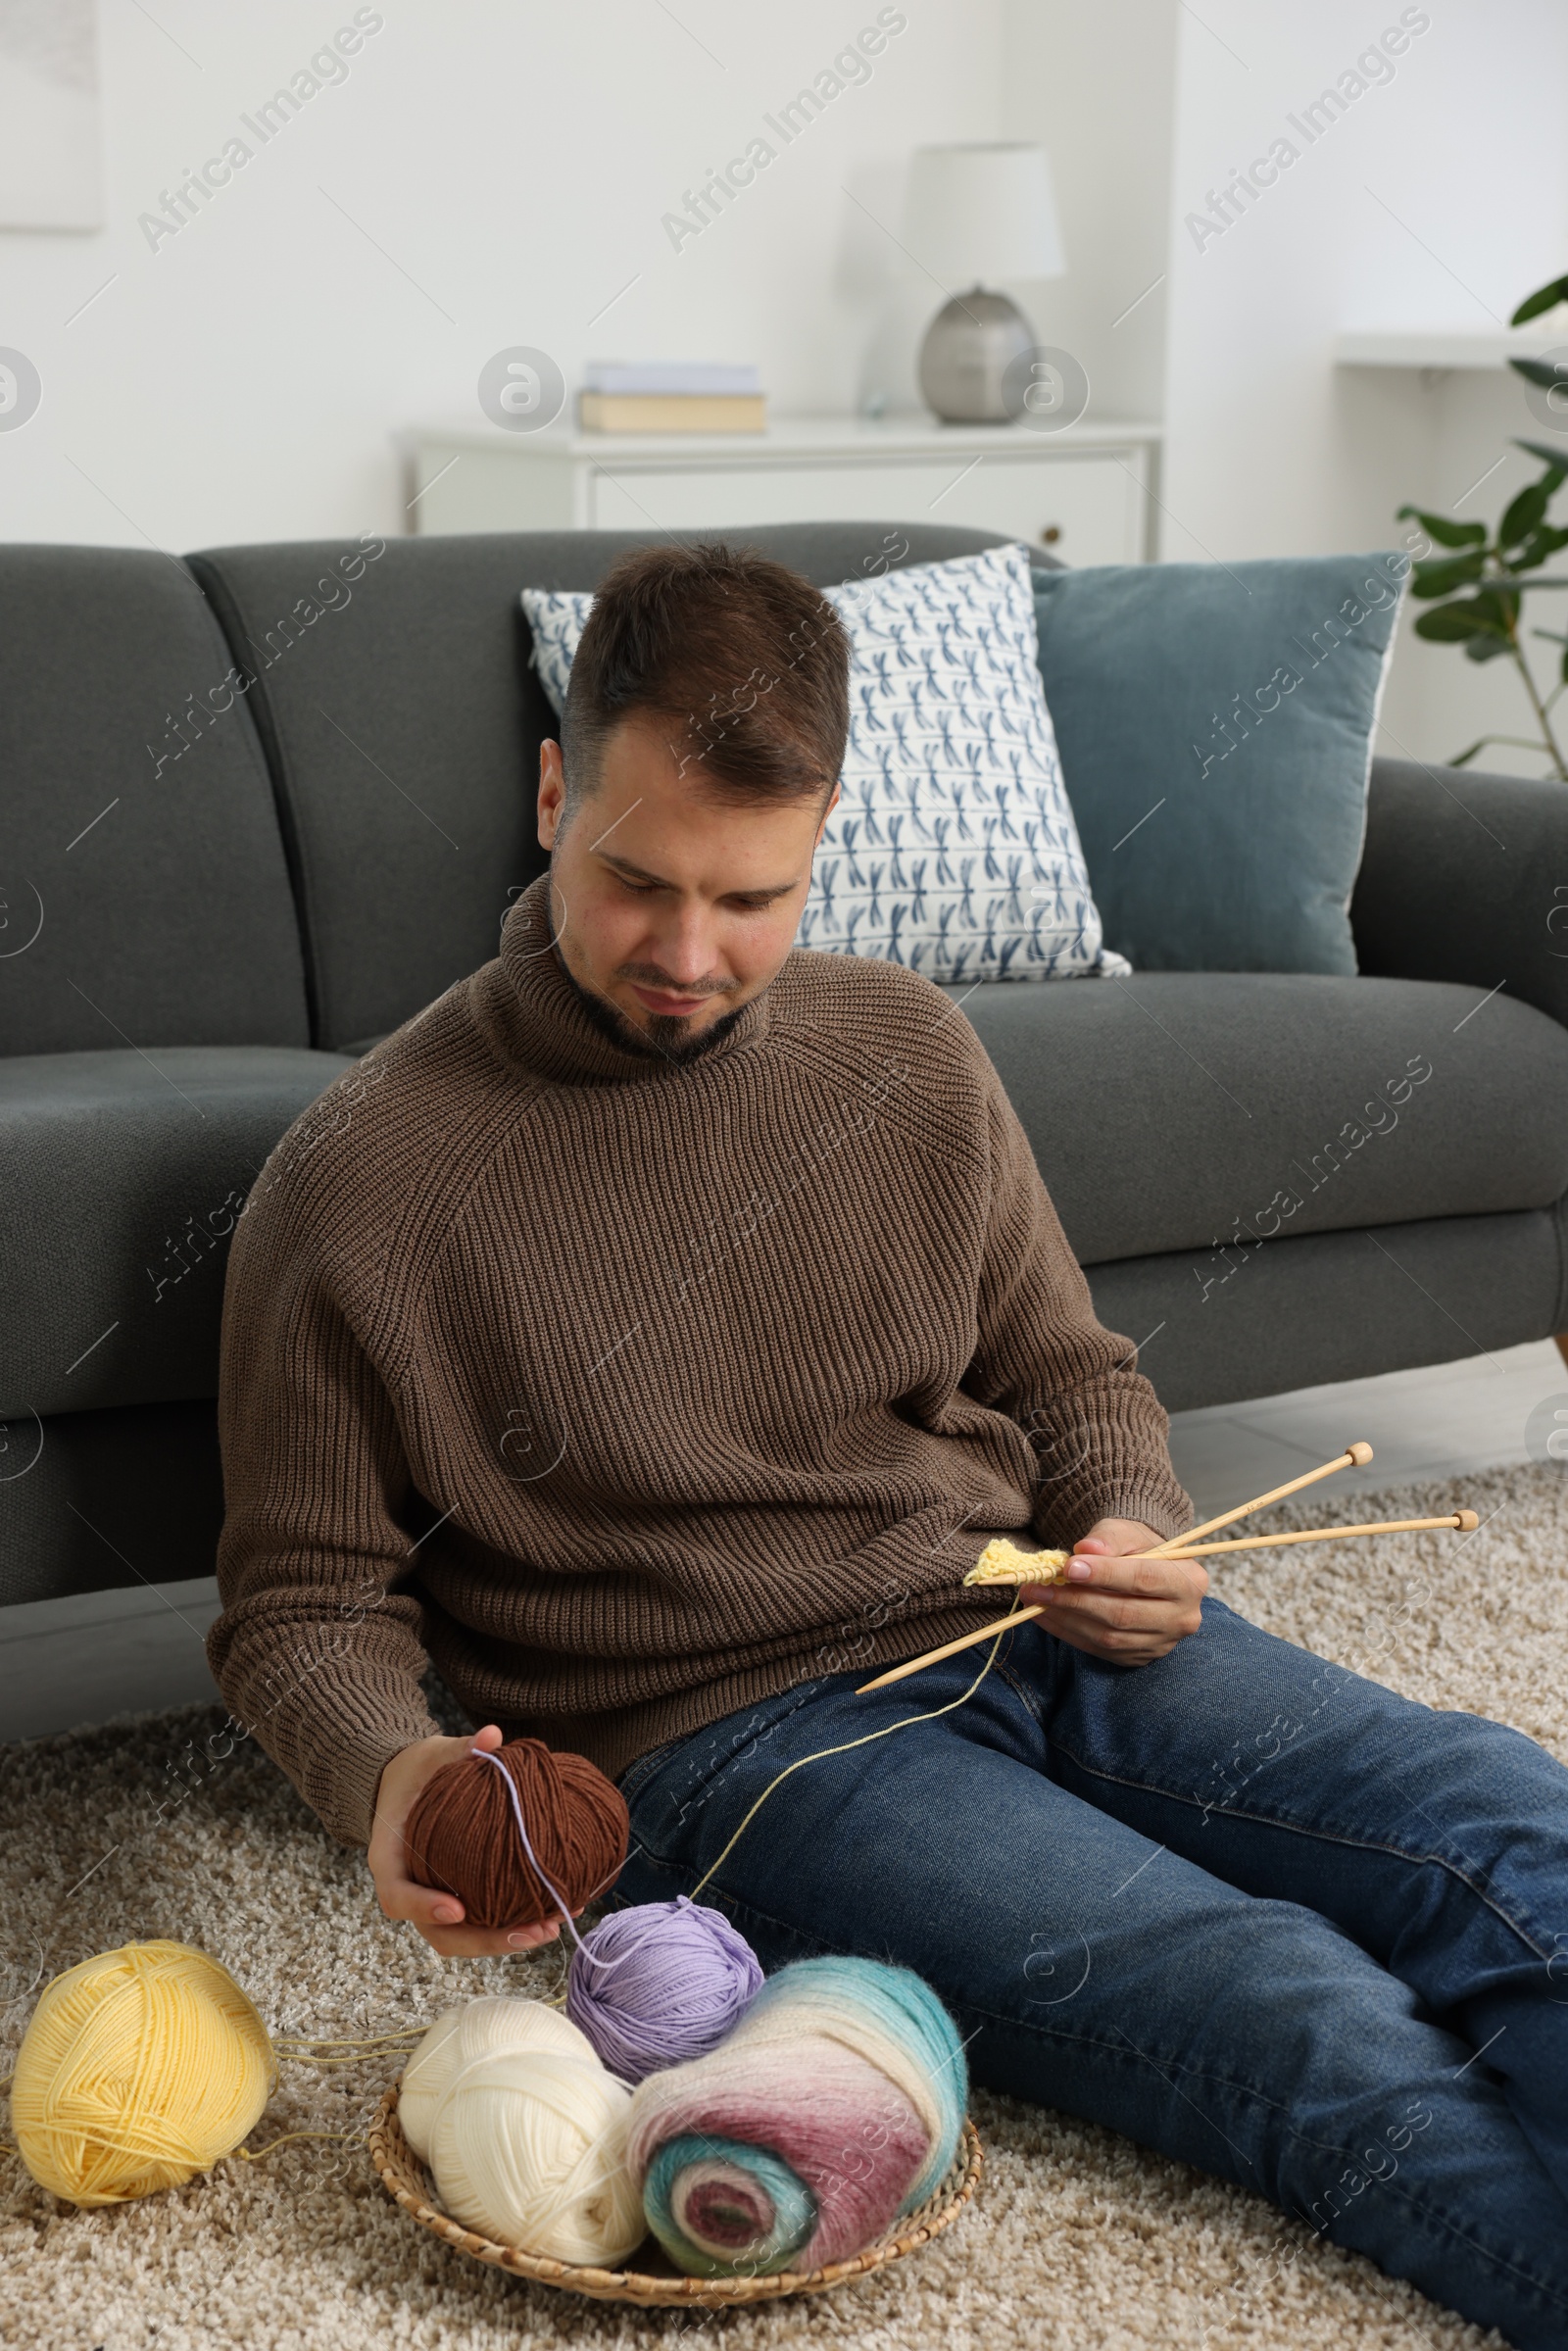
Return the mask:
<path fill-rule="evenodd" d="M 1234 560 L 1396 545 L 1394 508 L 1453 510 L 1537 433 L 1516 379 L 1333 364 L 1340 327 L 1490 327 L 1568 268 L 1568 12 L 1559 0 L 1432 0 L 1429 26 L 1316 143 L 1288 125 L 1401 19 L 1399 0 L 1312 9 L 1211 0 L 1180 16 L 1171 181 L 1164 555 Z M 1300 158 L 1222 235 L 1187 226 L 1276 136 Z M 1199 247 L 1201 237 L 1201 247 Z M 1493 517 L 1530 461 L 1509 454 L 1462 513 Z M 1542 604 L 1547 600 L 1540 600 Z M 1554 600 L 1568 602 L 1568 600 Z M 1556 623 L 1556 614 L 1552 618 Z M 1389 752 L 1446 757 L 1521 729 L 1516 677 L 1406 632 Z M 1528 755 L 1490 764 L 1535 773 Z"/>

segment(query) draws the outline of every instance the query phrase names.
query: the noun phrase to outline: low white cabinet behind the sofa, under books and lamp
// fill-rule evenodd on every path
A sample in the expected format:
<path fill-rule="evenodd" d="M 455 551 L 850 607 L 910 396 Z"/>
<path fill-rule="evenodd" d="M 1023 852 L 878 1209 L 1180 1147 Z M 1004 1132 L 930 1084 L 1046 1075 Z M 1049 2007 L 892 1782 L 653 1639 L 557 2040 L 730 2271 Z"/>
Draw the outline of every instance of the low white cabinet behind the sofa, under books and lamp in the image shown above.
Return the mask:
<path fill-rule="evenodd" d="M 1063 562 L 1157 552 L 1159 426 L 856 423 L 757 435 L 428 428 L 404 435 L 409 522 L 449 531 L 710 531 L 762 522 L 954 522 Z"/>

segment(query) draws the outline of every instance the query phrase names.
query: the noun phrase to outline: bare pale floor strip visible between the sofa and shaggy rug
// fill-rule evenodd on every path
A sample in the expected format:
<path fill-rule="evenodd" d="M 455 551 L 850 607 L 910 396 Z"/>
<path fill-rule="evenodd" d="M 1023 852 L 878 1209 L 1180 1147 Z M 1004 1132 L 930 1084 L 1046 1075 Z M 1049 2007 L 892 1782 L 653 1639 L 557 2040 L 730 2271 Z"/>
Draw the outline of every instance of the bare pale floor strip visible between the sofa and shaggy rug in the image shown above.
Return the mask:
<path fill-rule="evenodd" d="M 1465 1364 L 1178 1413 L 1171 1453 L 1199 1514 L 1213 1516 L 1342 1453 L 1354 1436 L 1366 1436 L 1375 1460 L 1340 1474 L 1335 1493 L 1526 1460 L 1526 1422 L 1554 1399 L 1568 1429 L 1568 1366 L 1542 1340 Z M 1556 1451 L 1566 1453 L 1568 1441 Z M 216 1697 L 202 1653 L 216 1613 L 209 1578 L 0 1610 L 0 1740 Z"/>

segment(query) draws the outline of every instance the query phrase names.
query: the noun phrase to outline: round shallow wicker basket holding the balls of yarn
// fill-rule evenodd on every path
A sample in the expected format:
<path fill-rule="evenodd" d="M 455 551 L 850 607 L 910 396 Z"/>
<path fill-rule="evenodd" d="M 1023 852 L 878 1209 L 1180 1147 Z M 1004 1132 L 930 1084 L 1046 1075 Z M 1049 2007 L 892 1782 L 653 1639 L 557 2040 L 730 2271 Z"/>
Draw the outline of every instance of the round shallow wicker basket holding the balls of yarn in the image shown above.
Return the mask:
<path fill-rule="evenodd" d="M 900 2262 L 905 2252 L 917 2252 L 933 2236 L 940 2236 L 943 2229 L 952 2226 L 973 2196 L 985 2161 L 980 2156 L 980 2135 L 966 2121 L 952 2170 L 940 2186 L 917 2212 L 907 2212 L 893 2233 L 884 2236 L 877 2245 L 867 2245 L 853 2262 L 832 2262 L 827 2269 L 811 2271 L 780 2269 L 773 2278 L 686 2278 L 658 2250 L 651 2252 L 651 2269 L 585 2269 L 576 2262 L 548 2262 L 536 2252 L 520 2252 L 515 2245 L 496 2245 L 491 2238 L 463 2229 L 461 2222 L 451 2219 L 433 2201 L 425 2170 L 397 2123 L 395 2085 L 376 2109 L 376 2121 L 369 2130 L 369 2151 L 388 2196 L 423 2229 L 433 2229 L 435 2236 L 461 2252 L 473 2252 L 477 2262 L 494 2262 L 496 2269 L 510 2269 L 517 2278 L 534 2278 L 538 2285 L 564 2285 L 569 2292 L 592 2295 L 597 2302 L 637 2302 L 644 2309 L 729 2309 L 738 2302 L 773 2302 L 778 2295 L 820 2295 L 830 2285 L 863 2278 L 867 2269 L 882 2269 L 884 2262 Z"/>

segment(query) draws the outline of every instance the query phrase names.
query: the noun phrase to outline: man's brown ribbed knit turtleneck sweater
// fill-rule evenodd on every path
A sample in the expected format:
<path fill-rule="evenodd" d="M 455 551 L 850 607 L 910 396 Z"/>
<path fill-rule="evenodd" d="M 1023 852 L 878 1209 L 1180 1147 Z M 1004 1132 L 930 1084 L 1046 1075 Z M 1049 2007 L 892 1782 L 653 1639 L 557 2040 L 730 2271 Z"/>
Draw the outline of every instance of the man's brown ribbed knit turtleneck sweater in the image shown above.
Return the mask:
<path fill-rule="evenodd" d="M 296 1119 L 228 1260 L 207 1650 L 346 1843 L 437 1728 L 425 1653 L 621 1773 L 994 1615 L 959 1582 L 997 1533 L 1190 1523 L 947 997 L 797 950 L 675 1065 L 599 1034 L 545 924 L 541 879 Z"/>

